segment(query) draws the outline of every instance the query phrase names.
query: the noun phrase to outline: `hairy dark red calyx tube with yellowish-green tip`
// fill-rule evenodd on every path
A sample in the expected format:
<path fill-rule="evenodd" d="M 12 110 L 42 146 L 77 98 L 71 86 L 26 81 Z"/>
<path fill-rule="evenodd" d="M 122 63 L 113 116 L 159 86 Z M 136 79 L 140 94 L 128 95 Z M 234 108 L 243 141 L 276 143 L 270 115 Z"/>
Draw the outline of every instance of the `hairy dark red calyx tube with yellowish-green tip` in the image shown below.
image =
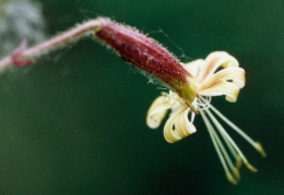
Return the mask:
<path fill-rule="evenodd" d="M 197 97 L 188 78 L 192 75 L 164 47 L 137 29 L 117 24 L 108 19 L 98 19 L 100 26 L 95 36 L 119 52 L 121 58 L 163 81 L 182 97 L 191 109 Z"/>

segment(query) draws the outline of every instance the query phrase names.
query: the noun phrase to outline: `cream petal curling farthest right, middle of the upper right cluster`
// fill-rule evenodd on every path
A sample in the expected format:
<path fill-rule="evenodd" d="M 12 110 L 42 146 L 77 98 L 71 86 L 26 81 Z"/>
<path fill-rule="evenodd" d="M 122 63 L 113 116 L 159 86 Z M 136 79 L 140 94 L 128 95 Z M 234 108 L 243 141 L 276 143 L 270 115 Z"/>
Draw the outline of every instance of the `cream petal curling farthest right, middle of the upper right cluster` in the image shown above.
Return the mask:
<path fill-rule="evenodd" d="M 240 68 L 226 68 L 217 73 L 213 74 L 209 80 L 204 81 L 200 88 L 205 89 L 217 82 L 221 81 L 232 81 L 232 83 L 236 84 L 239 88 L 245 86 L 245 71 Z"/>

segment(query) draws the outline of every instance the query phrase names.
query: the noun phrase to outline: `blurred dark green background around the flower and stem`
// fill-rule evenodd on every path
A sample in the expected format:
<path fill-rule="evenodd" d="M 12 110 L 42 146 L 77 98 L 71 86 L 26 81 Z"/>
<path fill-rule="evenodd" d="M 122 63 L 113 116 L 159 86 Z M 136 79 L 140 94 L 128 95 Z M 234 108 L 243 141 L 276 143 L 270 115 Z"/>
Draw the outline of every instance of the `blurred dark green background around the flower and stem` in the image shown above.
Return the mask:
<path fill-rule="evenodd" d="M 233 133 L 259 172 L 242 168 L 232 185 L 200 118 L 194 135 L 166 143 L 163 125 L 145 124 L 162 90 L 83 39 L 1 75 L 0 194 L 284 194 L 283 1 L 37 2 L 49 36 L 103 15 L 147 33 L 185 62 L 215 50 L 236 57 L 247 74 L 239 100 L 212 102 L 268 158 Z"/>

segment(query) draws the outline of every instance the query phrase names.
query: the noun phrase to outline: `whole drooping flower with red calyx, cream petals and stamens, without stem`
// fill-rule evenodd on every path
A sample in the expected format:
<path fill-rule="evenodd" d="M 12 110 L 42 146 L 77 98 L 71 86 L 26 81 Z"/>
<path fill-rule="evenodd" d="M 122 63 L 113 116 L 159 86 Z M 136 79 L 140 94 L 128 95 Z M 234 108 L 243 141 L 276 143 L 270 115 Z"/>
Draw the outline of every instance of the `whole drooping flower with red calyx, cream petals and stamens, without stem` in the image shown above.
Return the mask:
<path fill-rule="evenodd" d="M 234 57 L 224 51 L 215 51 L 205 60 L 181 63 L 164 47 L 137 29 L 108 19 L 98 20 L 100 25 L 95 31 L 96 37 L 118 51 L 125 61 L 154 75 L 169 88 L 149 109 L 146 123 L 151 129 L 158 127 L 170 110 L 164 126 L 164 136 L 168 143 L 175 143 L 197 131 L 193 121 L 200 113 L 228 181 L 237 184 L 240 179 L 238 170 L 242 162 L 249 170 L 257 171 L 217 118 L 265 157 L 261 144 L 252 141 L 210 102 L 213 96 L 222 95 L 227 101 L 235 102 L 239 89 L 245 86 L 245 70 L 239 68 Z"/>

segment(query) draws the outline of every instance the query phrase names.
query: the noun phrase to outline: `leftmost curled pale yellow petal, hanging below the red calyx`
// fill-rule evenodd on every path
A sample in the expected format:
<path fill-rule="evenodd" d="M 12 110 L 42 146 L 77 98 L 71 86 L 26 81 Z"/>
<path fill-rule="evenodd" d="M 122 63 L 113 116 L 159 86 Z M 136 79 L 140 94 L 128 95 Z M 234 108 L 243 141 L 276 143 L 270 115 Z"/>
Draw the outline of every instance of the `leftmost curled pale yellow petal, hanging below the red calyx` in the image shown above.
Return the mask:
<path fill-rule="evenodd" d="M 151 105 L 147 115 L 146 115 L 146 123 L 149 127 L 156 129 L 159 126 L 161 122 L 165 118 L 167 110 L 171 108 L 173 105 L 167 101 L 166 96 L 157 97 L 153 103 Z"/>

